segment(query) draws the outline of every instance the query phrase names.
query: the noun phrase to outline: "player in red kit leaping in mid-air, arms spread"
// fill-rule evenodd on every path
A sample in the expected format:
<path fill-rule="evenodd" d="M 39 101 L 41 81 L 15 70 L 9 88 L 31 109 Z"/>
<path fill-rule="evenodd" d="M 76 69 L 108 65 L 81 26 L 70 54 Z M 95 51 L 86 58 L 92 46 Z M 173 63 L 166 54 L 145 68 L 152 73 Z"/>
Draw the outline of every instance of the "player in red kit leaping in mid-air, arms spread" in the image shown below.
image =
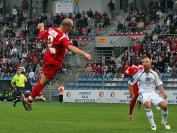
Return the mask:
<path fill-rule="evenodd" d="M 91 60 L 90 54 L 73 46 L 69 41 L 69 37 L 66 33 L 71 31 L 73 28 L 73 21 L 71 19 L 65 18 L 61 22 L 59 28 L 49 28 L 48 30 L 45 30 L 43 23 L 38 24 L 37 28 L 40 30 L 38 38 L 45 40 L 48 45 L 48 50 L 45 52 L 43 57 L 43 75 L 41 79 L 33 87 L 29 97 L 25 98 L 24 95 L 21 95 L 21 101 L 25 103 L 24 105 L 28 108 L 28 110 L 32 109 L 32 103 L 35 97 L 60 70 L 67 49 L 76 54 L 82 55 L 88 60 Z"/>

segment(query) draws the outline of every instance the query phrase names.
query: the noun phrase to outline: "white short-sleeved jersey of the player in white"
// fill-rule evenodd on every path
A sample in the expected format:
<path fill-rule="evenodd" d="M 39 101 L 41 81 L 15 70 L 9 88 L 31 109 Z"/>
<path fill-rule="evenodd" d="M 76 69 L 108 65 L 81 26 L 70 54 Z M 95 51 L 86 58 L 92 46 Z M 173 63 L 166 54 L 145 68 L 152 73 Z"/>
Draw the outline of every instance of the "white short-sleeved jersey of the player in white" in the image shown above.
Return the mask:
<path fill-rule="evenodd" d="M 138 71 L 128 83 L 134 85 L 136 82 L 139 85 L 139 94 L 156 92 L 156 87 L 163 84 L 158 74 L 152 69 L 149 73 L 145 73 L 144 70 Z"/>

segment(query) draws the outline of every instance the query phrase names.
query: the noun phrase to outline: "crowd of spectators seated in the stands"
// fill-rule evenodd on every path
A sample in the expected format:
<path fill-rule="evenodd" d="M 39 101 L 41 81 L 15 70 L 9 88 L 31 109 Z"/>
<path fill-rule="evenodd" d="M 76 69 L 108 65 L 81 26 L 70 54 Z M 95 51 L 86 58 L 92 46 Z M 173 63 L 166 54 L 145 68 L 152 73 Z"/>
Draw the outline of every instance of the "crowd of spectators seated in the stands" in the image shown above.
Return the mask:
<path fill-rule="evenodd" d="M 41 74 L 43 53 L 47 45 L 37 39 L 37 24 L 43 22 L 45 28 L 59 25 L 62 19 L 69 17 L 74 20 L 75 27 L 69 36 L 73 41 L 78 41 L 81 36 L 95 36 L 95 29 L 107 28 L 114 19 L 106 12 L 82 11 L 81 13 L 57 14 L 47 16 L 35 14 L 28 20 L 28 14 L 22 7 L 15 6 L 10 15 L 0 17 L 0 77 L 11 77 L 16 68 L 21 66 L 31 80 L 37 80 Z M 113 9 L 110 9 L 113 10 Z M 130 50 L 124 50 L 119 57 L 111 57 L 105 63 L 89 63 L 86 66 L 88 77 L 113 77 L 115 74 L 123 76 L 124 70 L 132 63 L 132 58 L 149 56 L 153 68 L 161 73 L 177 73 L 177 38 L 168 34 L 177 32 L 177 14 L 170 12 L 164 19 L 163 25 L 159 21 L 163 19 L 163 11 L 151 3 L 146 7 L 129 10 L 125 22 L 118 22 L 117 32 L 144 31 L 150 24 L 155 23 L 152 34 L 145 35 L 144 39 L 132 46 Z M 129 30 L 131 29 L 131 30 Z M 167 35 L 159 35 L 167 34 Z M 87 39 L 85 41 L 88 41 Z M 76 42 L 77 43 L 77 42 Z"/>

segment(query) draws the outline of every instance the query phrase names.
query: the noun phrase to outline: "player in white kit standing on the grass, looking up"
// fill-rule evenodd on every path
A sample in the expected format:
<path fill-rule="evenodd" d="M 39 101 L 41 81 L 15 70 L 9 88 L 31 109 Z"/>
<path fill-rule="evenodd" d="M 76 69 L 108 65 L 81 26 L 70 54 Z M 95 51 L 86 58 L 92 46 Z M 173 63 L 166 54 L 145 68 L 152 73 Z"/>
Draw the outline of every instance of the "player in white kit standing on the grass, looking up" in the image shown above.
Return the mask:
<path fill-rule="evenodd" d="M 151 61 L 148 57 L 145 57 L 143 59 L 143 65 L 144 69 L 138 71 L 128 82 L 128 87 L 132 96 L 131 99 L 133 100 L 135 98 L 133 93 L 133 85 L 138 82 L 139 95 L 142 98 L 147 118 L 149 120 L 149 123 L 151 124 L 151 129 L 156 130 L 156 124 L 154 122 L 154 116 L 152 112 L 153 105 L 158 105 L 162 109 L 161 124 L 164 125 L 165 129 L 171 129 L 170 125 L 167 122 L 168 108 L 167 103 L 164 100 L 167 99 L 167 94 L 164 91 L 163 83 L 158 74 L 151 69 Z M 160 94 L 163 96 L 163 98 L 156 93 L 156 87 L 159 89 Z"/>

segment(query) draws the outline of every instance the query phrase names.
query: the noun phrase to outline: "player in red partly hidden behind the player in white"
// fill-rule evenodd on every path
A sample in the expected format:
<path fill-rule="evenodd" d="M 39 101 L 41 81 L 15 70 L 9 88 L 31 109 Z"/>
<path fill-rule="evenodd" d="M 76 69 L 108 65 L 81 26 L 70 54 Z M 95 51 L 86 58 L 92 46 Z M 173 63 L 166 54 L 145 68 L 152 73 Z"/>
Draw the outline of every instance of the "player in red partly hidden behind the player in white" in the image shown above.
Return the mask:
<path fill-rule="evenodd" d="M 132 65 L 127 68 L 127 70 L 124 72 L 124 75 L 132 78 L 139 70 L 142 70 L 142 69 L 143 69 L 143 66 L 139 65 L 138 59 L 134 58 L 134 60 L 132 60 Z M 133 109 L 134 109 L 135 103 L 138 98 L 138 90 L 139 90 L 138 84 L 136 83 L 133 86 L 133 92 L 134 92 L 135 98 L 130 101 L 130 110 L 128 114 L 129 119 L 132 119 Z M 138 102 L 138 108 L 140 108 L 140 106 L 141 106 L 141 103 Z"/>

